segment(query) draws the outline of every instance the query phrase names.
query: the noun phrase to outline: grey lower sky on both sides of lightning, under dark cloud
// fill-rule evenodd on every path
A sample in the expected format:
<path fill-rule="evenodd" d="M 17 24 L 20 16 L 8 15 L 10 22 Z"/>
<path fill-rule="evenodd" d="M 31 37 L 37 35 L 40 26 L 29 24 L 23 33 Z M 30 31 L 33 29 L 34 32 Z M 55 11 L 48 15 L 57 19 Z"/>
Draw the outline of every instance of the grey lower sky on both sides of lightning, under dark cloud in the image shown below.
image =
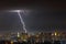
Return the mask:
<path fill-rule="evenodd" d="M 22 13 L 21 13 L 22 14 Z M 66 29 L 66 13 L 65 12 L 48 12 L 48 11 L 32 11 L 28 15 L 22 14 L 23 21 L 28 31 L 54 31 L 55 29 Z M 0 31 L 4 32 L 18 32 L 23 31 L 22 24 L 18 16 L 18 13 L 1 12 L 0 13 Z"/>

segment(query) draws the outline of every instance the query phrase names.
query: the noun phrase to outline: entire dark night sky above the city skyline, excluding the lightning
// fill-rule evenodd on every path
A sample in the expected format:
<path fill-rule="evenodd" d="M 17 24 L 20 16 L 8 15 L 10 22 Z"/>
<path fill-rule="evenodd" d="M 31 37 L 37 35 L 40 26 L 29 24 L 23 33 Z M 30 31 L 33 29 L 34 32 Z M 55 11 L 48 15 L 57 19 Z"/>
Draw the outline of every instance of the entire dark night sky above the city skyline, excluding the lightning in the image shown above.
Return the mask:
<path fill-rule="evenodd" d="M 0 33 L 23 31 L 18 13 L 6 10 L 32 10 L 22 14 L 28 32 L 65 31 L 66 3 L 64 1 L 0 1 Z"/>

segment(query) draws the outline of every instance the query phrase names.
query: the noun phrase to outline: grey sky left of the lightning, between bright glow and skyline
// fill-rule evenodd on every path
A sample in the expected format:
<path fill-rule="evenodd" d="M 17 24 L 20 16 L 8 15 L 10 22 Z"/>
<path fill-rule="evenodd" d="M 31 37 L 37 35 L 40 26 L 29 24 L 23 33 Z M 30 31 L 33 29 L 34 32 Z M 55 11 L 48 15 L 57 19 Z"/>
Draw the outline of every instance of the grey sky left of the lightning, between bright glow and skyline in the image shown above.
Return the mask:
<path fill-rule="evenodd" d="M 0 12 L 0 31 L 1 32 L 15 32 L 22 30 L 22 24 L 16 13 Z"/>

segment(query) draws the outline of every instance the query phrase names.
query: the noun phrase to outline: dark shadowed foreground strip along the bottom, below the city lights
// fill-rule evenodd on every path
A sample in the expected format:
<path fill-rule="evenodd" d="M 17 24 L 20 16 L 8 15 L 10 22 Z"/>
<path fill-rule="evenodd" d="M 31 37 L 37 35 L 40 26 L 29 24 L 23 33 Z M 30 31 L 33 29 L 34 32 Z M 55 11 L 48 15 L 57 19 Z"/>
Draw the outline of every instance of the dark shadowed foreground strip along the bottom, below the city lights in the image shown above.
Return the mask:
<path fill-rule="evenodd" d="M 44 41 L 44 42 L 11 42 L 11 41 L 0 41 L 0 44 L 63 44 L 61 41 Z M 65 43 L 64 43 L 65 44 Z"/>

